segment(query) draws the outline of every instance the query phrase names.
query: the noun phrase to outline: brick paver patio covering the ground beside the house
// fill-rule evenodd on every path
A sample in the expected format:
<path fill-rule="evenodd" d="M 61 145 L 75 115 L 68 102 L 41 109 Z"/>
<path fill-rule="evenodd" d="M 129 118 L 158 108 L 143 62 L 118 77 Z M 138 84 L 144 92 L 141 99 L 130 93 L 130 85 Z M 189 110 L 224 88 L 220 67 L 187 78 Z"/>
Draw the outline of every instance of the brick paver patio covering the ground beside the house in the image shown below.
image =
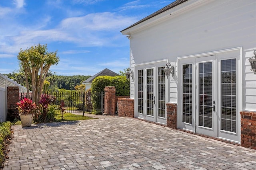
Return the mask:
<path fill-rule="evenodd" d="M 4 170 L 256 169 L 256 150 L 129 117 L 13 129 Z"/>

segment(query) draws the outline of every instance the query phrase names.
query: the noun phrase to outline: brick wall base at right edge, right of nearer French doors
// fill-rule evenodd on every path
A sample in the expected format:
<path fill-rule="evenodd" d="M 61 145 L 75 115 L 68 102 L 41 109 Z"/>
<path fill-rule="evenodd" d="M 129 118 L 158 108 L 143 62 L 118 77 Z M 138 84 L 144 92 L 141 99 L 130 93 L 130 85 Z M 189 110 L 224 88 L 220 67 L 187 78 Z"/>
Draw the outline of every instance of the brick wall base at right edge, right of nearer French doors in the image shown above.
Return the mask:
<path fill-rule="evenodd" d="M 256 149 L 256 112 L 240 111 L 241 146 Z"/>

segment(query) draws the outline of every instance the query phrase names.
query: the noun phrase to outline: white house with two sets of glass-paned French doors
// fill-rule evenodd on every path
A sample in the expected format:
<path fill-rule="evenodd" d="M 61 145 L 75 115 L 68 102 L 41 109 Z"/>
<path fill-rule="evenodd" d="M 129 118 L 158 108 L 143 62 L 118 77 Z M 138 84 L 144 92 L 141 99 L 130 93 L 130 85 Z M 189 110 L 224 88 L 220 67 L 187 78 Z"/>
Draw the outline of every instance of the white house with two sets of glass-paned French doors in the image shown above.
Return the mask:
<path fill-rule="evenodd" d="M 176 0 L 121 33 L 134 117 L 241 143 L 240 112 L 256 118 L 255 0 Z"/>

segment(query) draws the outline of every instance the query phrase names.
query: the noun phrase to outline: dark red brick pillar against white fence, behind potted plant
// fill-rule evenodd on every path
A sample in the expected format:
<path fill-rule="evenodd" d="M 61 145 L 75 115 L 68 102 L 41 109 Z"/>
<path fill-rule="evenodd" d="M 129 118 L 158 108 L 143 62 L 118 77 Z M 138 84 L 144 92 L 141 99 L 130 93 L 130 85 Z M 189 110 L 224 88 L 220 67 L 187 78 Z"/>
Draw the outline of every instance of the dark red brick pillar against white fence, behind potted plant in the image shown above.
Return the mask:
<path fill-rule="evenodd" d="M 6 121 L 13 121 L 16 117 L 19 118 L 19 112 L 16 108 L 16 102 L 19 102 L 19 87 L 9 86 L 7 87 L 7 115 Z"/>

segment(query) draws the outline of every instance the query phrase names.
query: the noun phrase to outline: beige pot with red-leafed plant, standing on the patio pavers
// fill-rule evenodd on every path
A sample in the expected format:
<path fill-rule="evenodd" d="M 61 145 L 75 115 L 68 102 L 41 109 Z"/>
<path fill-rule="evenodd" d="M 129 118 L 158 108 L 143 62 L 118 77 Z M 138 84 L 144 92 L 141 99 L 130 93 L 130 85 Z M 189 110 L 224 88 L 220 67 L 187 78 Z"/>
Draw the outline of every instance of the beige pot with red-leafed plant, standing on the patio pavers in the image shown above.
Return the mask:
<path fill-rule="evenodd" d="M 31 126 L 34 115 L 38 116 L 40 114 L 39 107 L 28 98 L 24 98 L 16 104 L 18 105 L 22 127 Z"/>

